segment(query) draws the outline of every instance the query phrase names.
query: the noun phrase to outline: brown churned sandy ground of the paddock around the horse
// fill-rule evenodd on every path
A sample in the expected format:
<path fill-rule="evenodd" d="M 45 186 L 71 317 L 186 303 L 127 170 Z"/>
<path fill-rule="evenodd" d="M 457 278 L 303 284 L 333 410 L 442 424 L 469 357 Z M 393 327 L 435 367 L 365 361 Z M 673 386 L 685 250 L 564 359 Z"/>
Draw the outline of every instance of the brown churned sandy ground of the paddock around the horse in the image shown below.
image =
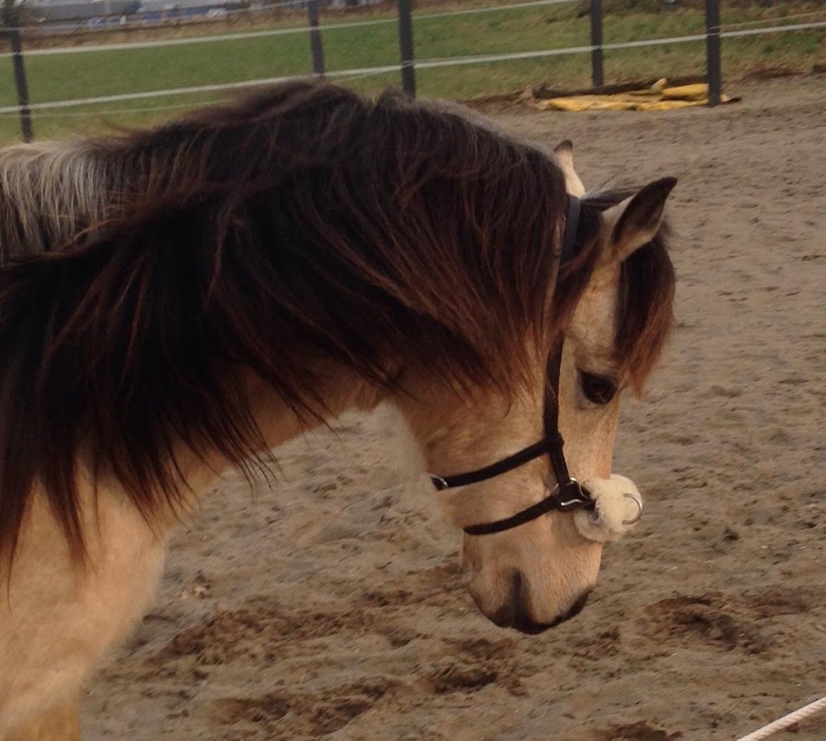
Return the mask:
<path fill-rule="evenodd" d="M 229 477 L 91 686 L 90 739 L 735 739 L 826 695 L 826 78 L 714 111 L 501 120 L 586 184 L 680 178 L 678 328 L 615 471 L 647 496 L 586 610 L 477 613 L 382 411 Z M 826 739 L 826 714 L 778 741 Z"/>

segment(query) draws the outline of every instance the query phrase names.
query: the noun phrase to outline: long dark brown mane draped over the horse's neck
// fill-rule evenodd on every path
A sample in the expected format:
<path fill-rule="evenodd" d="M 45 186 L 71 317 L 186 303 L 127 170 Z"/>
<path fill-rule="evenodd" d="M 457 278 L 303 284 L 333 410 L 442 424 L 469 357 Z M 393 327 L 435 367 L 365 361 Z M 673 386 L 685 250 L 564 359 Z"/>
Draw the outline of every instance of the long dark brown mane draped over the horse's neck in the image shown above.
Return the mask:
<path fill-rule="evenodd" d="M 285 83 L 81 146 L 83 193 L 51 197 L 79 234 L 64 246 L 70 220 L 20 216 L 17 242 L 40 239 L 0 265 L 7 558 L 35 486 L 82 560 L 80 473 L 152 521 L 183 501 L 182 445 L 249 467 L 246 372 L 302 419 L 324 409 L 319 360 L 379 386 L 403 358 L 512 387 L 526 336 L 559 330 L 596 259 L 583 249 L 554 292 L 555 161 L 400 93 Z M 105 188 L 112 203 L 91 195 Z"/>

